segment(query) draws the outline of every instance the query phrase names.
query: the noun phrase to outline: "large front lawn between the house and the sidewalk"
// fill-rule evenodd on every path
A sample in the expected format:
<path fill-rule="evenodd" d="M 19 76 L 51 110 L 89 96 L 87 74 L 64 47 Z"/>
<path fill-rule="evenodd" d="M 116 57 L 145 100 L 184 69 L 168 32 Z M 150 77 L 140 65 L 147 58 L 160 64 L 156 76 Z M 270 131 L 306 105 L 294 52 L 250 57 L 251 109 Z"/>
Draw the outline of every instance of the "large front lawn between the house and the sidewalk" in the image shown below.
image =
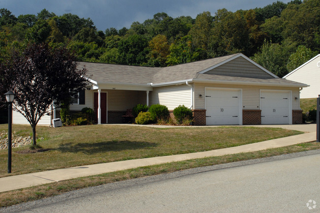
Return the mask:
<path fill-rule="evenodd" d="M 6 124 L 0 131 L 7 130 Z M 29 125 L 13 125 L 21 136 Z M 29 146 L 12 149 L 12 175 L 88 164 L 202 152 L 287 137 L 301 132 L 281 128 L 248 126 L 151 128 L 140 126 L 89 125 L 37 127 L 38 143 L 46 152 L 21 153 Z M 8 176 L 7 150 L 0 151 L 0 177 Z"/>

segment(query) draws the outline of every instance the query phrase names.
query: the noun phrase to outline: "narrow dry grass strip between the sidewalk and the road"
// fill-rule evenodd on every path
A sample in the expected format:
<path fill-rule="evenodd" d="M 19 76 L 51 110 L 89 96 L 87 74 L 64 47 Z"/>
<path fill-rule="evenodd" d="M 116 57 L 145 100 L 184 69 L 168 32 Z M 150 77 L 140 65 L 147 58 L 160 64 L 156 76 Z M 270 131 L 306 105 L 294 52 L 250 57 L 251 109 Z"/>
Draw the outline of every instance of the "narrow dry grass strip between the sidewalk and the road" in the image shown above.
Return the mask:
<path fill-rule="evenodd" d="M 207 157 L 193 160 L 186 160 L 180 162 L 166 163 L 155 166 L 146 166 L 124 171 L 106 173 L 91 177 L 77 178 L 58 183 L 49 183 L 44 185 L 33 186 L 30 188 L 23 188 L 14 191 L 7 191 L 0 193 L 0 207 L 11 206 L 18 203 L 38 200 L 45 197 L 50 197 L 62 194 L 67 191 L 76 190 L 80 188 L 101 185 L 105 183 L 113 183 L 117 181 L 124 181 L 134 178 L 146 177 L 151 175 L 158 175 L 162 173 L 175 172 L 179 170 L 196 168 L 201 166 L 217 165 L 222 163 L 249 160 L 262 157 L 270 157 L 280 154 L 287 154 L 293 152 L 302 152 L 307 150 L 320 149 L 320 143 L 311 142 L 304 144 L 297 144 L 288 147 L 269 149 L 258 152 L 229 154 L 217 157 Z"/>

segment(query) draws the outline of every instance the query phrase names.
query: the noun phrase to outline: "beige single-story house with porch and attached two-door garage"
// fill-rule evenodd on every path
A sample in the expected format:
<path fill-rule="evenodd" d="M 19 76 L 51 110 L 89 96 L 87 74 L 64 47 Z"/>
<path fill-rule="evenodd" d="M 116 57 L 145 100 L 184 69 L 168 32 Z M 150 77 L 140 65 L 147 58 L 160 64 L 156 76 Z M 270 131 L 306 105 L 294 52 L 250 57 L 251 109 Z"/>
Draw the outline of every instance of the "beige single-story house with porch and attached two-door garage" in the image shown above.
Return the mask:
<path fill-rule="evenodd" d="M 185 105 L 194 125 L 302 123 L 299 91 L 308 85 L 279 78 L 241 53 L 169 67 L 78 66 L 86 67 L 91 90 L 70 111 L 90 107 L 97 123 L 121 123 L 139 103 L 159 103 L 171 113 Z M 21 122 L 16 113 L 13 122 Z"/>

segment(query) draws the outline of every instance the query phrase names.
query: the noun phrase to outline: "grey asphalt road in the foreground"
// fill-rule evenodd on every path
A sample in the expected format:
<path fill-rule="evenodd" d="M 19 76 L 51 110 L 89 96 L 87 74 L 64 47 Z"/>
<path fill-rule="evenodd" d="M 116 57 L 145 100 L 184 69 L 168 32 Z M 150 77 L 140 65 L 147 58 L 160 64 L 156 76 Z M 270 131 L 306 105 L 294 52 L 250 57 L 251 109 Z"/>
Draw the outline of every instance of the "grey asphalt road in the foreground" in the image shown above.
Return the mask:
<path fill-rule="evenodd" d="M 2 212 L 316 213 L 320 212 L 320 150 L 106 184 Z"/>

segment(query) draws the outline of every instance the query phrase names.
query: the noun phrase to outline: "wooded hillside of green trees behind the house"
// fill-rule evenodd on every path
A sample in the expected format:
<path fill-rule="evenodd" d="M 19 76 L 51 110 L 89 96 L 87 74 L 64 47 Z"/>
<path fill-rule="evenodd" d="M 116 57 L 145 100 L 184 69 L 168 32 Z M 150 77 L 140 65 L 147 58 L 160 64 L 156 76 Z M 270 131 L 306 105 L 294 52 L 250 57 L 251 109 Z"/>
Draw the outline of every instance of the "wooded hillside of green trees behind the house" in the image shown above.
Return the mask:
<path fill-rule="evenodd" d="M 211 12 L 214 12 L 212 14 Z M 73 50 L 79 61 L 168 66 L 241 52 L 282 77 L 320 52 L 320 0 L 263 8 L 219 9 L 172 18 L 157 13 L 129 29 L 97 30 L 93 21 L 43 9 L 16 17 L 0 9 L 0 60 L 30 42 Z"/>

